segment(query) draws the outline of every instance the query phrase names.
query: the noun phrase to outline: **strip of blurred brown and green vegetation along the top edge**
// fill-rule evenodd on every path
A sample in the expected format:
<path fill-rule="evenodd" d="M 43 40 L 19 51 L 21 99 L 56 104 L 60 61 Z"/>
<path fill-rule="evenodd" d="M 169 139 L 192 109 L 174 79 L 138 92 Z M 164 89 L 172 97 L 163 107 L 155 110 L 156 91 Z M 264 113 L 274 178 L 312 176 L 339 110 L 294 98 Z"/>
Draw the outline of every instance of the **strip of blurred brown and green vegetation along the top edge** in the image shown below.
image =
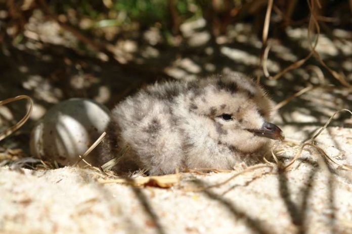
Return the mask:
<path fill-rule="evenodd" d="M 286 27 L 306 24 L 310 10 L 307 2 L 315 3 L 324 28 L 350 28 L 351 1 L 347 0 L 276 0 L 272 10 L 270 33 L 281 37 Z M 226 34 L 229 25 L 251 23 L 258 36 L 261 34 L 267 0 L 1 0 L 4 9 L 0 15 L 1 27 L 8 35 L 23 35 L 23 26 L 33 11 L 42 10 L 51 20 L 69 24 L 87 35 L 114 40 L 123 32 L 144 31 L 150 27 L 161 29 L 166 42 L 173 45 L 172 37 L 181 35 L 180 26 L 199 18 L 215 36 Z M 107 28 L 111 33 L 106 33 Z M 112 29 L 113 28 L 113 29 Z M 103 31 L 103 33 L 102 33 Z M 105 32 L 105 33 L 104 33 Z M 109 34 L 109 35 L 107 35 Z"/>

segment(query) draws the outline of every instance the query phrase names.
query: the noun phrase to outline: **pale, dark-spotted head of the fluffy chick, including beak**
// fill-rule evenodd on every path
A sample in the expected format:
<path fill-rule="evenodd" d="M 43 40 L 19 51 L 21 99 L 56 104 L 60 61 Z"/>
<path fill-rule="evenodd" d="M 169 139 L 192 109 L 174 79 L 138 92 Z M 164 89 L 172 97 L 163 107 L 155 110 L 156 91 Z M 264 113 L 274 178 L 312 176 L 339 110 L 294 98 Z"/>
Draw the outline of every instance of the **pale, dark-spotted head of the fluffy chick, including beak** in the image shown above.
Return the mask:
<path fill-rule="evenodd" d="M 280 128 L 270 123 L 272 103 L 267 94 L 240 75 L 202 80 L 187 100 L 189 111 L 217 144 L 250 153 L 270 139 L 284 138 Z"/>

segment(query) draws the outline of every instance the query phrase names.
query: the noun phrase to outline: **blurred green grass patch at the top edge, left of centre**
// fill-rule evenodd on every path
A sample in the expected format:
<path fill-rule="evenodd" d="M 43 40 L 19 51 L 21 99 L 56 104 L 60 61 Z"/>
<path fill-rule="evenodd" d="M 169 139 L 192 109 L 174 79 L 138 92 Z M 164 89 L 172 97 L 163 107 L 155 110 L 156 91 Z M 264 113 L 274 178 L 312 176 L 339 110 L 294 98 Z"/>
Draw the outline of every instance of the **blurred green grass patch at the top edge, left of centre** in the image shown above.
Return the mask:
<path fill-rule="evenodd" d="M 196 12 L 189 10 L 188 2 L 183 0 L 175 3 L 174 8 L 179 16 L 190 18 L 196 15 Z M 170 24 L 168 3 L 162 0 L 52 1 L 51 4 L 60 14 L 66 14 L 76 6 L 77 14 L 96 21 L 93 27 L 120 26 L 139 22 L 142 28 L 155 23 L 160 23 L 167 28 Z"/>

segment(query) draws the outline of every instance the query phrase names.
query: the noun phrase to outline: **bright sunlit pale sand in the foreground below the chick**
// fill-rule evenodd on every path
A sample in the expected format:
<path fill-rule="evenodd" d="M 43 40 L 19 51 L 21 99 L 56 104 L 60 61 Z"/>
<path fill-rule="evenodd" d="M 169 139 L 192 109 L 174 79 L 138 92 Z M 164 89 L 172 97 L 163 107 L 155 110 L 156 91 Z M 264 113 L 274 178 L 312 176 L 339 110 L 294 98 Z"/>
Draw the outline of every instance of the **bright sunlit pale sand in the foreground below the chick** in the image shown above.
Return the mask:
<path fill-rule="evenodd" d="M 333 127 L 317 143 L 347 164 L 350 136 L 352 129 Z M 278 156 L 292 157 L 295 151 L 285 148 Z M 0 232 L 351 233 L 352 173 L 333 164 L 332 173 L 321 169 L 325 164 L 318 155 L 306 148 L 290 171 L 259 168 L 204 191 L 197 190 L 236 171 L 183 173 L 178 183 L 162 189 L 103 184 L 106 178 L 92 169 L 6 166 L 0 168 Z"/>

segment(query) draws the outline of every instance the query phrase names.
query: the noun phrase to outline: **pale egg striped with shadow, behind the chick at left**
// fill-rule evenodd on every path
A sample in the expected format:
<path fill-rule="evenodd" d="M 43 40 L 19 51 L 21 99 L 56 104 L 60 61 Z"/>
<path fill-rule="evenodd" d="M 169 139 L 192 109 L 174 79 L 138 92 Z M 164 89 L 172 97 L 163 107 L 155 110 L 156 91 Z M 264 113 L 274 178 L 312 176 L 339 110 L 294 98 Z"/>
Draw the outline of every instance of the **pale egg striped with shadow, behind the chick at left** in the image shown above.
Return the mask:
<path fill-rule="evenodd" d="M 34 126 L 30 138 L 32 156 L 72 165 L 104 132 L 110 111 L 90 99 L 72 98 L 47 111 Z M 87 160 L 97 157 L 92 151 Z M 81 162 L 80 164 L 82 164 Z"/>

